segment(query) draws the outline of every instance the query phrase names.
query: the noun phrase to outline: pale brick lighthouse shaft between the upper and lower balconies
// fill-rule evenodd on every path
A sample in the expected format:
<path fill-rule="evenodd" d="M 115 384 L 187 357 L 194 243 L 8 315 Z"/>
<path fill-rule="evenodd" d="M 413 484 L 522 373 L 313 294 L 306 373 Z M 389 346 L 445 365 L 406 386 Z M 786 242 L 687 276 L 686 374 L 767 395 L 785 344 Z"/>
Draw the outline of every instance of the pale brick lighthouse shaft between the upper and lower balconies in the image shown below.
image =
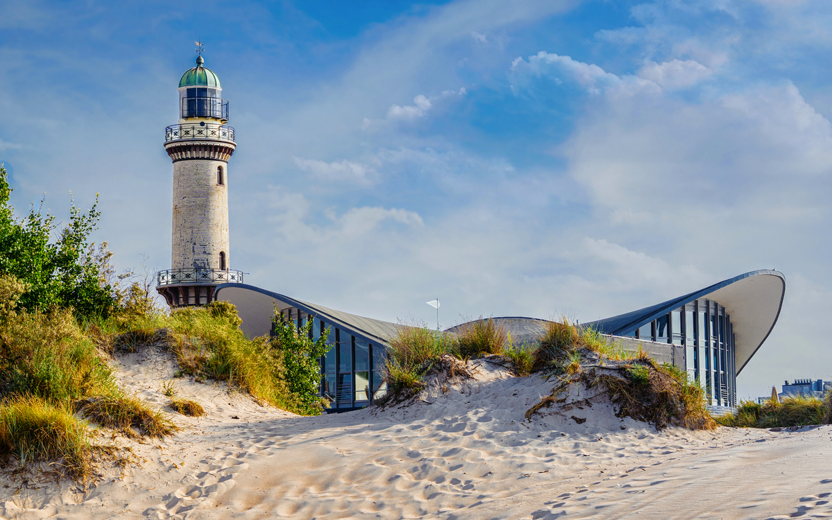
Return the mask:
<path fill-rule="evenodd" d="M 224 184 L 217 184 L 217 166 Z M 173 163 L 173 269 L 230 269 L 228 163 L 191 159 Z"/>

